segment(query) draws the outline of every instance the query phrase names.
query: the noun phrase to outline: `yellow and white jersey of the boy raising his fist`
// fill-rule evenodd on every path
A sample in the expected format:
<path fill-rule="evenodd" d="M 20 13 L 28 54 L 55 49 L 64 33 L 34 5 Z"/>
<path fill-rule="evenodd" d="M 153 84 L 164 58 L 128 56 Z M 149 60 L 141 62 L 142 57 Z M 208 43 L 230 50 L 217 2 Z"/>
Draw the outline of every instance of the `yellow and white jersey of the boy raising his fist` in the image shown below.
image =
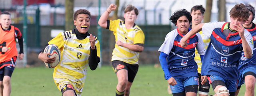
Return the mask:
<path fill-rule="evenodd" d="M 113 33 L 116 40 L 120 40 L 123 43 L 144 44 L 144 33 L 136 24 L 134 24 L 132 28 L 126 29 L 125 22 L 123 20 L 110 20 L 108 22 L 107 29 L 114 31 Z M 111 61 L 120 60 L 128 64 L 138 64 L 140 53 L 115 44 L 112 55 Z"/>

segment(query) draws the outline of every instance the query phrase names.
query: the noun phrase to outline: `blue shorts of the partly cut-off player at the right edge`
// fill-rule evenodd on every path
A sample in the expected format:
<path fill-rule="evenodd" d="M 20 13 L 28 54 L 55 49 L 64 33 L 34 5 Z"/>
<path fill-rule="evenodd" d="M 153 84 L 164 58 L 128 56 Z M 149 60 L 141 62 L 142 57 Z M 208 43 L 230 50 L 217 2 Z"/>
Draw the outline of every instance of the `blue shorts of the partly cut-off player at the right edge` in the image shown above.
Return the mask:
<path fill-rule="evenodd" d="M 248 67 L 242 73 L 240 73 L 238 75 L 238 86 L 241 86 L 242 84 L 244 84 L 244 77 L 243 76 L 244 76 L 244 73 L 246 73 L 246 72 L 253 72 L 254 74 L 256 74 L 256 68 Z"/>

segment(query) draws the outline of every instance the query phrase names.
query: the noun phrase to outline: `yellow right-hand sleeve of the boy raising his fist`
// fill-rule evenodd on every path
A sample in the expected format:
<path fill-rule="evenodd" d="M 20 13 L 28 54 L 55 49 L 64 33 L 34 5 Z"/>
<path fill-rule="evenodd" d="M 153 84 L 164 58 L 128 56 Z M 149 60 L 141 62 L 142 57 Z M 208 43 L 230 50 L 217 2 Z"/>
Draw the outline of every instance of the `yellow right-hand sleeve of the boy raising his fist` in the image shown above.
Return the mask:
<path fill-rule="evenodd" d="M 145 36 L 142 30 L 138 30 L 138 32 L 135 33 L 133 43 L 134 44 L 144 44 Z"/>

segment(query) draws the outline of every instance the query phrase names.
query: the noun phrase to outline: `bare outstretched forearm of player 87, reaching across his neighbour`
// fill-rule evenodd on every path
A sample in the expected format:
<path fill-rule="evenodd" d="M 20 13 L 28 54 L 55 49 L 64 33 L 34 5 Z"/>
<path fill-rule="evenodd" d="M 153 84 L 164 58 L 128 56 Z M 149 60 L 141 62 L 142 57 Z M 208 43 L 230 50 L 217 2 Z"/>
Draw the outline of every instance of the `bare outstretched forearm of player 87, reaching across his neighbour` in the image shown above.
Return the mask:
<path fill-rule="evenodd" d="M 182 47 L 188 46 L 187 45 L 188 38 L 190 38 L 194 34 L 200 32 L 202 30 L 203 26 L 204 26 L 204 23 L 200 23 L 200 24 L 196 25 L 192 30 L 190 30 L 185 36 L 183 36 L 183 38 L 181 38 L 181 40 L 180 40 L 180 46 L 182 46 Z"/>

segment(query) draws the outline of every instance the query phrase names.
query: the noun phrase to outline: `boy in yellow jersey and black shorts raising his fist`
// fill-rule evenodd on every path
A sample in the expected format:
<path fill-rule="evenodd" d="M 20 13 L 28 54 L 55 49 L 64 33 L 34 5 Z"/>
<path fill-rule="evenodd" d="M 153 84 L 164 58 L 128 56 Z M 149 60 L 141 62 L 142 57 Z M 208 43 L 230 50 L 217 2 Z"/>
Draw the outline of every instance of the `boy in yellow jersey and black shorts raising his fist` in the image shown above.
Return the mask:
<path fill-rule="evenodd" d="M 112 10 L 116 10 L 116 5 L 110 4 L 100 17 L 98 24 L 113 31 L 116 38 L 111 60 L 118 79 L 116 96 L 129 96 L 130 87 L 138 72 L 139 54 L 144 49 L 145 36 L 140 27 L 134 23 L 138 15 L 136 7 L 128 5 L 125 8 L 125 22 L 120 19 L 107 20 Z"/>

